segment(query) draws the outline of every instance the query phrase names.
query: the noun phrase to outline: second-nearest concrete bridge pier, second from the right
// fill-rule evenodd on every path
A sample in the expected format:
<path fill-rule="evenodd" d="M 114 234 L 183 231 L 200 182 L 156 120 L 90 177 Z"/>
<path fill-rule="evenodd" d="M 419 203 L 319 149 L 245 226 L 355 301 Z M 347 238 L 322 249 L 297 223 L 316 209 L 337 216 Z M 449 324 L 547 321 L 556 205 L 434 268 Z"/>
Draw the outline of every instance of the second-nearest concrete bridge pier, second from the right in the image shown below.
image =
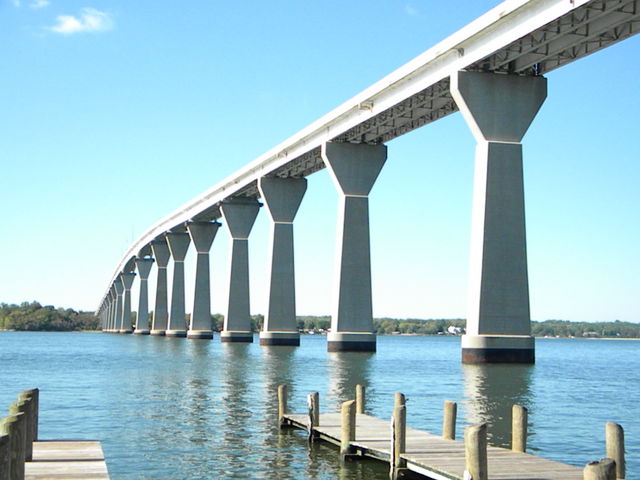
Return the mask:
<path fill-rule="evenodd" d="M 325 143 L 322 158 L 339 195 L 335 296 L 327 348 L 373 352 L 369 192 L 387 159 L 387 147 Z"/>

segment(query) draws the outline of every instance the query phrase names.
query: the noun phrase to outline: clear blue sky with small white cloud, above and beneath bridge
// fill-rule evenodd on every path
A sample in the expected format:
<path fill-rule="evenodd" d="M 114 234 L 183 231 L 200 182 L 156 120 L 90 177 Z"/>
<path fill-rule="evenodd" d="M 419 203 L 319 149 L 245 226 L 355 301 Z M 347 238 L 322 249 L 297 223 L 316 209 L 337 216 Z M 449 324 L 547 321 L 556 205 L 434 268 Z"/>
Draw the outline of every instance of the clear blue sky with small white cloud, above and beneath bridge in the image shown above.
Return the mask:
<path fill-rule="evenodd" d="M 94 309 L 153 223 L 498 3 L 0 0 L 0 302 Z M 533 319 L 640 322 L 639 58 L 640 36 L 548 75 L 524 138 Z M 455 114 L 388 147 L 371 195 L 374 314 L 465 317 L 471 133 Z M 331 310 L 335 215 L 326 171 L 312 175 L 300 314 Z M 254 313 L 267 234 L 261 212 Z M 228 247 L 223 228 L 214 312 Z"/>

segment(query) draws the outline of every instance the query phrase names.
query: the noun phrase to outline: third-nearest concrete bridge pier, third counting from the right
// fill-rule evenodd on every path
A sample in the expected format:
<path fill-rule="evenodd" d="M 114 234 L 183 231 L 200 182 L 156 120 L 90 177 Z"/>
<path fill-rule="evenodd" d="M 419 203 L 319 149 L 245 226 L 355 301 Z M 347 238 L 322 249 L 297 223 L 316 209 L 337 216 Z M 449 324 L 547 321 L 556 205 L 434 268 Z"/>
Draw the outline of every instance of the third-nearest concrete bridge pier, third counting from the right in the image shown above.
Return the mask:
<path fill-rule="evenodd" d="M 258 188 L 271 217 L 269 306 L 260 345 L 298 346 L 293 219 L 307 190 L 307 180 L 263 177 Z"/>

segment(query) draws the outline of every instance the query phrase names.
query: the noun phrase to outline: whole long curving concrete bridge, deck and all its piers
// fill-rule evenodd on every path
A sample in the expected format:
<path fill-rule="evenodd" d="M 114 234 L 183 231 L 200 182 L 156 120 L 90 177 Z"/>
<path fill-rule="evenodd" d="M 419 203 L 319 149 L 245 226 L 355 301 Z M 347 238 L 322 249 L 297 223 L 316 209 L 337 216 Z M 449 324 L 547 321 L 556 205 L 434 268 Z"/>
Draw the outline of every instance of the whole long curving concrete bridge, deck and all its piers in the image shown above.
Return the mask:
<path fill-rule="evenodd" d="M 338 195 L 329 351 L 375 351 L 368 195 L 386 143 L 460 111 L 476 142 L 464 362 L 532 363 L 522 139 L 546 98 L 544 75 L 640 30 L 640 0 L 507 0 L 153 225 L 116 267 L 96 314 L 106 332 L 210 339 L 209 250 L 232 238 L 223 342 L 251 342 L 248 239 L 271 223 L 268 309 L 260 343 L 299 345 L 293 222 L 307 177 L 327 168 Z M 261 203 L 262 202 L 262 203 Z M 375 212 L 374 212 L 375 214 Z M 184 258 L 197 251 L 185 324 Z M 171 303 L 167 266 L 173 259 Z M 153 319 L 147 281 L 157 268 Z M 136 275 L 137 271 L 137 275 Z"/>

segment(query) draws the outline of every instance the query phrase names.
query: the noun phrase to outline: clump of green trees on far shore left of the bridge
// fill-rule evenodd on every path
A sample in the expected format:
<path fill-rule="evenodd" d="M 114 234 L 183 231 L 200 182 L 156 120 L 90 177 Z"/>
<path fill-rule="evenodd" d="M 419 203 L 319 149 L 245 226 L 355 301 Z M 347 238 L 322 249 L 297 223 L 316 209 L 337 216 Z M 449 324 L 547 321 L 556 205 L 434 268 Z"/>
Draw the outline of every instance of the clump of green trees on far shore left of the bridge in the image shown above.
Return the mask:
<path fill-rule="evenodd" d="M 0 303 L 0 329 L 27 331 L 99 330 L 92 312 L 42 306 L 38 302 L 20 305 Z"/>

